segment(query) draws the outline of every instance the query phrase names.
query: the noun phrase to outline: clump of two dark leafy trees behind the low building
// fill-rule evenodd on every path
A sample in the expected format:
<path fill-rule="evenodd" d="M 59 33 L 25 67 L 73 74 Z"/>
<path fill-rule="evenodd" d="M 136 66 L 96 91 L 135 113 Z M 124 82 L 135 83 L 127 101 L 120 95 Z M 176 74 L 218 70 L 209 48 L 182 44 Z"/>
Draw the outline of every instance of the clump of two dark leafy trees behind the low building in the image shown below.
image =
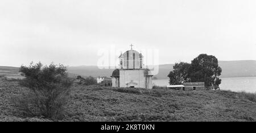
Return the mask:
<path fill-rule="evenodd" d="M 168 77 L 170 85 L 180 85 L 183 82 L 205 82 L 207 89 L 218 89 L 221 84 L 221 68 L 215 56 L 201 54 L 189 63 L 175 63 Z"/>

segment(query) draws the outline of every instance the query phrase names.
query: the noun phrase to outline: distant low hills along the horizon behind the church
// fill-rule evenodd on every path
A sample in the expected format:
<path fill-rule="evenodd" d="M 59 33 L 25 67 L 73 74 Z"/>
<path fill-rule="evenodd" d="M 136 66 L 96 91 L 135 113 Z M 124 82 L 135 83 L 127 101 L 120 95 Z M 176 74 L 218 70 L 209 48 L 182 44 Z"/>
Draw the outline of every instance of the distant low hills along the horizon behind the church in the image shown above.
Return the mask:
<path fill-rule="evenodd" d="M 222 68 L 221 77 L 256 77 L 256 61 L 219 61 Z M 168 73 L 172 70 L 174 64 L 159 65 L 159 73 L 154 77 L 158 79 L 167 78 Z M 87 76 L 106 76 L 110 77 L 114 69 L 98 69 L 97 66 L 70 66 L 68 67 L 69 76 L 76 77 L 81 75 Z M 19 68 L 11 66 L 0 66 L 0 75 L 17 74 Z"/>

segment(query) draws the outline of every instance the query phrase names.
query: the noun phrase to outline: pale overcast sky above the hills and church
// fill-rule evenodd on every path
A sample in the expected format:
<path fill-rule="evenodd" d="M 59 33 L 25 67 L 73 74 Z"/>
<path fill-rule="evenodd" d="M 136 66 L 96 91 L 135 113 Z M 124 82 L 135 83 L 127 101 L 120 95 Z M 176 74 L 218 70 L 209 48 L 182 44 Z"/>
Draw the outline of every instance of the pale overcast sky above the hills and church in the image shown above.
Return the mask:
<path fill-rule="evenodd" d="M 256 1 L 0 1 L 0 65 L 97 65 L 98 49 L 159 49 L 159 63 L 256 60 Z"/>

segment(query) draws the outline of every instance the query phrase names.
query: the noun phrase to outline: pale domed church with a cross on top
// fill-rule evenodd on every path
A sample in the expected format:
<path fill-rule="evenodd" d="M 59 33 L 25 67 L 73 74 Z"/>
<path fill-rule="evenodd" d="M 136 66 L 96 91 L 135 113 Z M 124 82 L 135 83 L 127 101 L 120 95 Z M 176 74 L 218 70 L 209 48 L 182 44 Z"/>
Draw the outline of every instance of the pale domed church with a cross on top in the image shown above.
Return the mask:
<path fill-rule="evenodd" d="M 112 73 L 112 86 L 152 89 L 152 74 L 144 68 L 142 53 L 131 49 L 119 56 L 119 68 Z"/>

